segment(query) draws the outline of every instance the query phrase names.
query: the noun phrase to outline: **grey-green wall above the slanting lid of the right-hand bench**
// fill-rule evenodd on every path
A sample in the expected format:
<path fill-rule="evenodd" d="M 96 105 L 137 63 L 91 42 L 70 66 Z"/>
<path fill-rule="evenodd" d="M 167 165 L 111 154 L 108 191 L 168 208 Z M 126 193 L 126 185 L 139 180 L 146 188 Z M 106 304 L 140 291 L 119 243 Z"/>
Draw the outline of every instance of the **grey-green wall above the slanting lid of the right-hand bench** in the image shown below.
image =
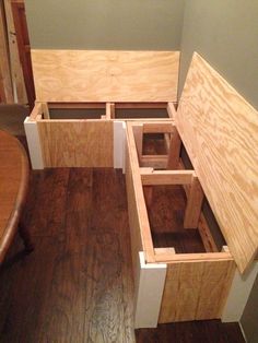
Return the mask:
<path fill-rule="evenodd" d="M 179 93 L 194 50 L 258 108 L 258 1 L 186 1 Z"/>

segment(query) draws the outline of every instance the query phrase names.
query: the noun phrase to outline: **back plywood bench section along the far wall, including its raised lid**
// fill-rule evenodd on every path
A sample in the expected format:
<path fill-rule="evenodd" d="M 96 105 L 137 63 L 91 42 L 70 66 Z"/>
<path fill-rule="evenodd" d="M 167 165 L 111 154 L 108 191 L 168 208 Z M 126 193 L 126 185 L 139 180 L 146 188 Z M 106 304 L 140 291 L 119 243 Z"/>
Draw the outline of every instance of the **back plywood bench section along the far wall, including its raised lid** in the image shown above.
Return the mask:
<path fill-rule="evenodd" d="M 176 102 L 178 51 L 32 50 L 32 63 L 35 168 L 121 167 L 125 118 L 168 118 Z"/>

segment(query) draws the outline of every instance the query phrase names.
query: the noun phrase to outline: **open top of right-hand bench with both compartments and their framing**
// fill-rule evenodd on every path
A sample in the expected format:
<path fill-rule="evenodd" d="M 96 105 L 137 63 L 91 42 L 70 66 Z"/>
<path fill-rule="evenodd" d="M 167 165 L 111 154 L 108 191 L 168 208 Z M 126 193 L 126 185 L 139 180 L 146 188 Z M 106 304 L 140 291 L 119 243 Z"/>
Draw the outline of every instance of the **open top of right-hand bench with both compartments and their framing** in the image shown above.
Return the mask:
<path fill-rule="evenodd" d="M 225 240 L 175 125 L 132 122 L 128 140 L 132 173 L 141 182 L 138 201 L 146 211 L 143 206 L 138 214 L 143 220 L 146 215 L 153 249 L 174 248 L 178 255 L 222 251 Z"/>

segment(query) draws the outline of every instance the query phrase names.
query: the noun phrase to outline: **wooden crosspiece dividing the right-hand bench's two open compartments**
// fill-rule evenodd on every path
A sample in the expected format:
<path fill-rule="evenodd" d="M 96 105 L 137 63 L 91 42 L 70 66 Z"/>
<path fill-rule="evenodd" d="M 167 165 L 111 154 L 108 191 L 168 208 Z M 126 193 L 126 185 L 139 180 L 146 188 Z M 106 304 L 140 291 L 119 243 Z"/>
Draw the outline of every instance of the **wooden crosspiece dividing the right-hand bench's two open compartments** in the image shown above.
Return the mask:
<path fill-rule="evenodd" d="M 150 170 L 140 169 L 143 186 L 188 185 L 192 182 L 194 170 Z"/>

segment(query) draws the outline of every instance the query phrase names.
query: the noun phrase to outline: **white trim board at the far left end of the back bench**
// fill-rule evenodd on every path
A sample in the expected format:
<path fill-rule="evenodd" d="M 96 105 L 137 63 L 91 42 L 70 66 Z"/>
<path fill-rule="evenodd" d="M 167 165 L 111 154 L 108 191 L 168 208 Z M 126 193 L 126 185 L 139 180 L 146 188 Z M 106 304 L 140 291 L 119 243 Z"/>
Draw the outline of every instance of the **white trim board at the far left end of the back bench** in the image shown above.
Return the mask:
<path fill-rule="evenodd" d="M 26 117 L 24 120 L 24 129 L 27 139 L 27 146 L 33 169 L 44 169 L 42 145 L 39 140 L 39 133 L 37 130 L 37 122 Z"/>

